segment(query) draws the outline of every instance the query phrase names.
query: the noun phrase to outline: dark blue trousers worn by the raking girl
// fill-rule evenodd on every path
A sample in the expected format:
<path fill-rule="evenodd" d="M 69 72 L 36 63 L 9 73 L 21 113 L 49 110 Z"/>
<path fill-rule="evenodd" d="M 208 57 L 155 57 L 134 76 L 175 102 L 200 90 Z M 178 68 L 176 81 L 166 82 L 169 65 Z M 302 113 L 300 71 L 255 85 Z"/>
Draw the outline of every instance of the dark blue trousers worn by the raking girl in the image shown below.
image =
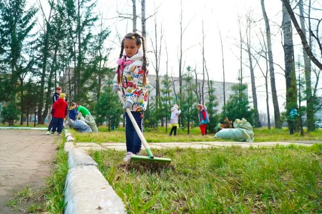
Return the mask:
<path fill-rule="evenodd" d="M 141 112 L 131 111 L 137 125 L 139 126 L 141 132 L 143 133 L 143 117 L 141 118 Z M 141 150 L 141 140 L 135 131 L 135 128 L 128 116 L 128 113 L 125 112 L 125 138 L 126 138 L 126 150 L 137 154 Z"/>

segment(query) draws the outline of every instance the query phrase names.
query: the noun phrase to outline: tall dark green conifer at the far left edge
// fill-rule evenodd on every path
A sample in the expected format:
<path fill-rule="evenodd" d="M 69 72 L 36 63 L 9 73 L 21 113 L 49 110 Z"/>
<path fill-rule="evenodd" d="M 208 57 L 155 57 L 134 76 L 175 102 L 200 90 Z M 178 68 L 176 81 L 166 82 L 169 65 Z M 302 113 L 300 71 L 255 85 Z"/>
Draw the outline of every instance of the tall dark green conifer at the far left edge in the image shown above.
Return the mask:
<path fill-rule="evenodd" d="M 34 16 L 37 12 L 31 6 L 25 10 L 25 0 L 2 0 L 0 1 L 0 28 L 2 29 L 2 48 L 7 51 L 3 54 L 1 64 L 7 71 L 11 72 L 10 77 L 10 103 L 8 107 L 17 113 L 16 93 L 19 71 L 18 62 L 22 57 L 23 45 L 35 25 Z M 10 117 L 9 125 L 14 124 L 14 118 Z"/>

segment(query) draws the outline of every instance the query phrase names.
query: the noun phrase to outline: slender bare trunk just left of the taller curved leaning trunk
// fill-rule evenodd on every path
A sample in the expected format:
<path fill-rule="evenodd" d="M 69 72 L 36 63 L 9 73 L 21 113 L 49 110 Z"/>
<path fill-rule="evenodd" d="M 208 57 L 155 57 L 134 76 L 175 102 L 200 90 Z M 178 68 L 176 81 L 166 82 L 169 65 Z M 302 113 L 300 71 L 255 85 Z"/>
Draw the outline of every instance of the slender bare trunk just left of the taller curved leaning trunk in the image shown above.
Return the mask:
<path fill-rule="evenodd" d="M 251 93 L 253 96 L 253 105 L 254 105 L 254 110 L 255 110 L 255 123 L 256 123 L 257 127 L 262 127 L 262 125 L 260 123 L 259 114 L 258 114 L 255 75 L 254 75 L 254 68 L 253 68 L 253 62 L 252 62 L 252 57 L 251 57 L 251 20 L 250 20 L 250 17 L 247 17 L 246 45 L 247 45 L 247 52 L 248 52 L 248 57 L 249 57 L 249 68 L 251 71 Z"/>

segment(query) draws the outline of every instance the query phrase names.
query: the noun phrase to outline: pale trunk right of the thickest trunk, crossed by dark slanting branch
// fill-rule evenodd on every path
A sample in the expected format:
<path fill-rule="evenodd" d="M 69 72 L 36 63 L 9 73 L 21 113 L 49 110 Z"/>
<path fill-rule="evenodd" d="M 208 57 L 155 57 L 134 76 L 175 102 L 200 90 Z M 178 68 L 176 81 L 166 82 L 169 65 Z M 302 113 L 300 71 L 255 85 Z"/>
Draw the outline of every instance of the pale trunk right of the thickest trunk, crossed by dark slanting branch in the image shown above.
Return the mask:
<path fill-rule="evenodd" d="M 300 10 L 301 29 L 306 37 L 303 0 L 299 0 L 298 6 Z M 314 101 L 312 98 L 312 88 L 311 88 L 311 60 L 308 57 L 304 46 L 303 46 L 303 58 L 304 58 L 304 69 L 305 69 L 305 84 L 306 84 L 305 94 L 306 94 L 306 103 L 307 103 L 306 114 L 307 114 L 307 122 L 308 122 L 308 131 L 314 131 L 315 130 L 314 109 L 313 109 Z"/>

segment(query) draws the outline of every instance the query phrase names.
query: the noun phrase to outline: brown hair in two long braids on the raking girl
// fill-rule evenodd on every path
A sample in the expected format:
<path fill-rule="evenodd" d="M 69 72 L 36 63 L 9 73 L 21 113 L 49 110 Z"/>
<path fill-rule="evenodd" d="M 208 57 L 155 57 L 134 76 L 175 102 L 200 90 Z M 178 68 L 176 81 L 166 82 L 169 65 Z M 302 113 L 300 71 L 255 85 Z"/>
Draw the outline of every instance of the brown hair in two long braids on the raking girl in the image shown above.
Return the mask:
<path fill-rule="evenodd" d="M 136 45 L 141 45 L 142 44 L 142 49 L 143 49 L 143 65 L 142 65 L 142 70 L 143 70 L 143 85 L 146 85 L 147 83 L 147 57 L 146 57 L 146 49 L 145 49 L 145 41 L 144 41 L 144 38 L 138 34 L 138 33 L 128 33 L 127 35 L 125 35 L 125 37 L 122 39 L 122 42 L 121 42 L 121 53 L 120 53 L 120 56 L 119 58 L 122 58 L 123 57 L 123 51 L 124 51 L 124 39 L 136 39 Z M 141 42 L 141 39 L 142 39 L 142 42 Z M 121 74 L 120 74 L 120 68 L 121 68 L 121 65 L 118 65 L 118 84 L 121 84 Z"/>

